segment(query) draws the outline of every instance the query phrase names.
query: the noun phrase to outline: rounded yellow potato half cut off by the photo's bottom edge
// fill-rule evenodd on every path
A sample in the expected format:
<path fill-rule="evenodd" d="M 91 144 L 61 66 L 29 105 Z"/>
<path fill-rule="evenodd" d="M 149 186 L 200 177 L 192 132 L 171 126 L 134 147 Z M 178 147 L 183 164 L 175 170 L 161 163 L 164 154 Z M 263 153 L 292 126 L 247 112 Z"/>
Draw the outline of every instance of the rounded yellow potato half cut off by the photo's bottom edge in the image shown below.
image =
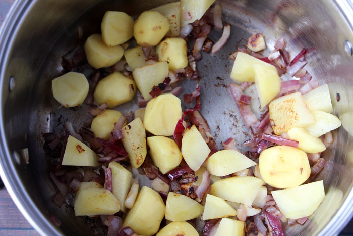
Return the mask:
<path fill-rule="evenodd" d="M 196 229 L 185 221 L 174 221 L 159 230 L 156 236 L 199 236 Z"/>

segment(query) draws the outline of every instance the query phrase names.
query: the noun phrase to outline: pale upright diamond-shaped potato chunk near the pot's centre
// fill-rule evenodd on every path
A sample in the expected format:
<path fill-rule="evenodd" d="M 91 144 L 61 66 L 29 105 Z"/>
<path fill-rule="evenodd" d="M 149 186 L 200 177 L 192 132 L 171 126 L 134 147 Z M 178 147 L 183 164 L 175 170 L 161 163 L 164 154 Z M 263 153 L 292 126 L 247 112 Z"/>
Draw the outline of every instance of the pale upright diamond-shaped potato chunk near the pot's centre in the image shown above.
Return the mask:
<path fill-rule="evenodd" d="M 182 139 L 182 155 L 190 168 L 193 171 L 200 169 L 210 152 L 210 148 L 196 126 L 187 128 Z"/>

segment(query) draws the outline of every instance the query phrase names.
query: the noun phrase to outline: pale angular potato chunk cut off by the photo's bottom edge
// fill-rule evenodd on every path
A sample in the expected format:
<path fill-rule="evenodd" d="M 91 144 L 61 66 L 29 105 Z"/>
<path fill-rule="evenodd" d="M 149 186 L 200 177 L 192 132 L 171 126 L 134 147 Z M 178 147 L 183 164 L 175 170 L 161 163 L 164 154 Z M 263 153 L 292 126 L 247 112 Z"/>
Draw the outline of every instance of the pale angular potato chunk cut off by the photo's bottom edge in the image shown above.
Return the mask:
<path fill-rule="evenodd" d="M 243 236 L 245 234 L 245 222 L 222 218 L 215 236 Z"/>

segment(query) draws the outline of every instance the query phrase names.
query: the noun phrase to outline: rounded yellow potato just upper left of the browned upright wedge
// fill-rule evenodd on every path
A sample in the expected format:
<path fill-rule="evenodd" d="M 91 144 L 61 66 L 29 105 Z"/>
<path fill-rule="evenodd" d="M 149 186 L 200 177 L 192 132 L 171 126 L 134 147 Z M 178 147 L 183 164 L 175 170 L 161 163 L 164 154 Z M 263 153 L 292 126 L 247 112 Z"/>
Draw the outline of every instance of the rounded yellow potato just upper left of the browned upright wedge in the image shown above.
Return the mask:
<path fill-rule="evenodd" d="M 115 123 L 119 121 L 122 115 L 123 114 L 120 111 L 110 109 L 100 112 L 92 120 L 91 130 L 94 133 L 94 136 L 109 140 L 110 133 L 113 131 Z"/>

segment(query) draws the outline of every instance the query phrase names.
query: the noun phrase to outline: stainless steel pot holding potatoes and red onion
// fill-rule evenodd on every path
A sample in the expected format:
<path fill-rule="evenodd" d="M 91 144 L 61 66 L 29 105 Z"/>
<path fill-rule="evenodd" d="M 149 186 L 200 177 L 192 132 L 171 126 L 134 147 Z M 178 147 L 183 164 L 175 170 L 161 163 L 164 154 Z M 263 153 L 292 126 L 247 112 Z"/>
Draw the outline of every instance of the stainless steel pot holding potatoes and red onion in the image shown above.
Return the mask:
<path fill-rule="evenodd" d="M 171 1 L 27 0 L 16 1 L 4 22 L 0 36 L 0 176 L 14 202 L 42 235 L 91 234 L 89 227 L 71 209 L 59 209 L 51 201 L 55 188 L 42 149 L 41 134 L 61 129 L 60 122 L 74 121 L 79 128 L 85 109 L 58 108 L 52 98 L 50 81 L 62 73 L 61 56 L 76 44 L 77 29 L 84 37 L 99 32 L 106 10 L 119 10 L 137 16 L 143 10 Z M 232 61 L 228 54 L 254 32 L 262 32 L 268 49 L 275 39 L 285 37 L 291 52 L 310 49 L 306 69 L 320 83 L 329 83 L 334 113 L 352 111 L 353 85 L 353 4 L 329 0 L 220 0 L 223 17 L 232 25 L 231 37 L 216 56 L 204 54 L 198 64 L 202 76 L 202 113 L 216 136 L 218 145 L 229 136 L 241 144 L 242 120 L 227 89 Z M 214 31 L 216 41 L 221 35 Z M 92 71 L 82 69 L 87 77 Z M 218 77 L 218 79 L 217 79 Z M 194 81 L 185 81 L 185 92 Z M 340 101 L 336 101 L 336 93 Z M 136 102 L 136 101 L 135 101 Z M 117 109 L 134 110 L 129 103 Z M 136 106 L 136 105 L 135 105 Z M 258 115 L 258 114 L 257 114 Z M 353 118 L 353 117 L 352 117 Z M 288 234 L 334 235 L 353 214 L 353 124 L 351 120 L 334 132 L 334 145 L 324 153 L 328 162 L 317 177 L 324 179 L 326 197 L 305 226 L 286 227 Z M 24 149 L 29 150 L 29 164 Z M 50 215 L 61 220 L 55 227 Z M 87 223 L 87 222 L 86 222 Z M 88 222 L 89 223 L 89 222 Z"/>

